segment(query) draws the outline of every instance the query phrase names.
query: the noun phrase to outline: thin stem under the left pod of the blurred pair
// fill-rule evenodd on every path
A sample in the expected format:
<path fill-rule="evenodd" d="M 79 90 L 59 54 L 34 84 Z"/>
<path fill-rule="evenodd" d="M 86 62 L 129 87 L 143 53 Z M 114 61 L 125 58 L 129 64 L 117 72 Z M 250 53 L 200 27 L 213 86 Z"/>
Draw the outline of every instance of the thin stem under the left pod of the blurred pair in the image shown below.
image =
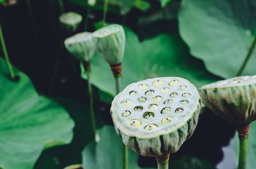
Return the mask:
<path fill-rule="evenodd" d="M 93 111 L 93 95 L 92 95 L 92 85 L 90 80 L 90 62 L 89 61 L 83 62 L 83 67 L 87 72 L 88 91 L 90 96 L 90 113 L 91 113 L 91 121 L 92 121 L 92 132 L 94 136 L 94 141 L 98 142 L 99 138 L 97 136 L 96 120 L 95 120 L 95 114 Z"/>

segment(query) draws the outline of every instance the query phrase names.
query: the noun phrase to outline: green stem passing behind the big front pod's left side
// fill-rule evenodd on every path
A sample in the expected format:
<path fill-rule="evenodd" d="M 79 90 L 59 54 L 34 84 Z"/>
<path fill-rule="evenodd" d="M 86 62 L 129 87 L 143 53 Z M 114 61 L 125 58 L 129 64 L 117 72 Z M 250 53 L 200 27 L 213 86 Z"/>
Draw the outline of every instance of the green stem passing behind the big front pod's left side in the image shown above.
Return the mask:
<path fill-rule="evenodd" d="M 120 75 L 115 76 L 116 94 L 121 92 L 121 77 Z M 128 148 L 122 142 L 123 151 L 123 169 L 128 169 Z"/>

